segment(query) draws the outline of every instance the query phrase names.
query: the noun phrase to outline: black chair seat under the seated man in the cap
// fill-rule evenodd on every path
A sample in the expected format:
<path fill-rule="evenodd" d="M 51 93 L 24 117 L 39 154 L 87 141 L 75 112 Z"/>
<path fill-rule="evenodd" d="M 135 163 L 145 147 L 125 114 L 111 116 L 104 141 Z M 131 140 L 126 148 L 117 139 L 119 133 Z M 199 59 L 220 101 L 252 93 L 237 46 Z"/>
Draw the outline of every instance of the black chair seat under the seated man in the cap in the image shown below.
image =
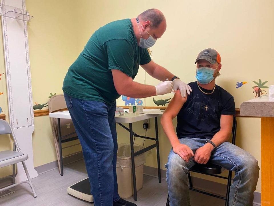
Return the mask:
<path fill-rule="evenodd" d="M 225 169 L 219 165 L 214 165 L 212 163 L 207 163 L 206 165 L 196 163 L 193 167 L 190 168 L 190 171 L 211 175 L 219 175 L 223 171 L 225 171 Z"/>

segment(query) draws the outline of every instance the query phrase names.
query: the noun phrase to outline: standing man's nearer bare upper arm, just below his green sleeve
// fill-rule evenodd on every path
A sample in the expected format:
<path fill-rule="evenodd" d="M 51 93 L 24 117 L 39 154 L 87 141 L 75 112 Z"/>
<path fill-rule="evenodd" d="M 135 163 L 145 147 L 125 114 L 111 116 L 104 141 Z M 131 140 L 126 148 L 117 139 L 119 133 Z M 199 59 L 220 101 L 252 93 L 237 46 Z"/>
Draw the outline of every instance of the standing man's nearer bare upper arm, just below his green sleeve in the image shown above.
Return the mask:
<path fill-rule="evenodd" d="M 116 91 L 122 95 L 123 89 L 132 83 L 132 78 L 117 69 L 112 69 L 112 77 Z"/>

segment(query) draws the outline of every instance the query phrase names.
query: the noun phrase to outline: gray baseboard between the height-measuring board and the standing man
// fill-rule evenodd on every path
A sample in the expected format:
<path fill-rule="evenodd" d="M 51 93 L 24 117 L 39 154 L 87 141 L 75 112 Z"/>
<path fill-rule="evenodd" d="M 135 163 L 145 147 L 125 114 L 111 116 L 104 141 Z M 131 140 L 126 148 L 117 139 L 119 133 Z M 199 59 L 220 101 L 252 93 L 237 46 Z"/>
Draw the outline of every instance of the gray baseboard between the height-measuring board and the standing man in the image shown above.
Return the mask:
<path fill-rule="evenodd" d="M 82 151 L 76 152 L 74 154 L 63 157 L 63 165 L 68 165 L 70 163 L 76 162 L 76 161 L 81 160 L 81 159 L 84 159 L 83 152 Z M 56 168 L 58 168 L 57 160 L 53 161 L 51 163 L 47 163 L 45 165 L 35 167 L 34 169 L 37 171 L 37 173 L 39 175 L 39 174 L 45 173 L 47 171 L 51 171 L 51 170 L 56 169 Z"/>

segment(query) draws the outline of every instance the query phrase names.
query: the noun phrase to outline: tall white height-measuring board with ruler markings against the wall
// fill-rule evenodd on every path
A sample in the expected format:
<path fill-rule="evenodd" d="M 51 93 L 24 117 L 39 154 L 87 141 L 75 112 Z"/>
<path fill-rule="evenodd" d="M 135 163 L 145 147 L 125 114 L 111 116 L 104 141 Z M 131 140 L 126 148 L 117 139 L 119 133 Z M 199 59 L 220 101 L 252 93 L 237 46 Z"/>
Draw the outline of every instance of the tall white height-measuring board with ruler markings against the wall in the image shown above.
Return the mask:
<path fill-rule="evenodd" d="M 31 178 L 37 177 L 33 166 L 32 133 L 34 116 L 29 64 L 27 21 L 31 18 L 25 0 L 1 0 L 2 33 L 6 68 L 9 122 L 21 152 L 29 155 L 25 161 Z M 18 164 L 16 181 L 27 179 Z"/>

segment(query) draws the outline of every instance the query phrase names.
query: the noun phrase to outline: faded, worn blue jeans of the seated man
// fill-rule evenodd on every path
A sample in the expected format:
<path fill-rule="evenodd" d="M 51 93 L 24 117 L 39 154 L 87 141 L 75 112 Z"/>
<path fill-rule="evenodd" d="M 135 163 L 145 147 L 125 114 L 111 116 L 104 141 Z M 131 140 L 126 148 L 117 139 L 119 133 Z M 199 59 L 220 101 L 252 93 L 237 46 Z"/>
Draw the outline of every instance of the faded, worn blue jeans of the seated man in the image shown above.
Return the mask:
<path fill-rule="evenodd" d="M 182 138 L 180 143 L 188 145 L 195 153 L 198 148 L 204 146 L 206 140 Z M 230 142 L 224 142 L 215 148 L 209 161 L 235 172 L 229 194 L 229 205 L 252 206 L 253 193 L 259 178 L 258 161 L 251 154 Z M 194 164 L 193 158 L 187 163 L 171 149 L 168 163 L 165 165 L 170 206 L 190 205 L 188 173 L 189 168 Z"/>

